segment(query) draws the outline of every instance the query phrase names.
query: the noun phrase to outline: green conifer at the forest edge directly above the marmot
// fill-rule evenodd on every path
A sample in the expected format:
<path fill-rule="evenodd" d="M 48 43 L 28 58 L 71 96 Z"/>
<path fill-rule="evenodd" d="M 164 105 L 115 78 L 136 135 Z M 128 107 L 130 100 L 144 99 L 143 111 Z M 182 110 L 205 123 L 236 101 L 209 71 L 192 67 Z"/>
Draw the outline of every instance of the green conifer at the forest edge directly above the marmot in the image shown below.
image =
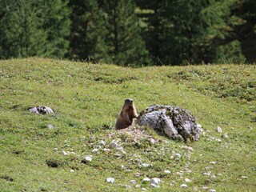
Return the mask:
<path fill-rule="evenodd" d="M 132 0 L 100 1 L 106 12 L 108 54 L 118 65 L 146 66 L 150 64 L 139 20 Z"/>

